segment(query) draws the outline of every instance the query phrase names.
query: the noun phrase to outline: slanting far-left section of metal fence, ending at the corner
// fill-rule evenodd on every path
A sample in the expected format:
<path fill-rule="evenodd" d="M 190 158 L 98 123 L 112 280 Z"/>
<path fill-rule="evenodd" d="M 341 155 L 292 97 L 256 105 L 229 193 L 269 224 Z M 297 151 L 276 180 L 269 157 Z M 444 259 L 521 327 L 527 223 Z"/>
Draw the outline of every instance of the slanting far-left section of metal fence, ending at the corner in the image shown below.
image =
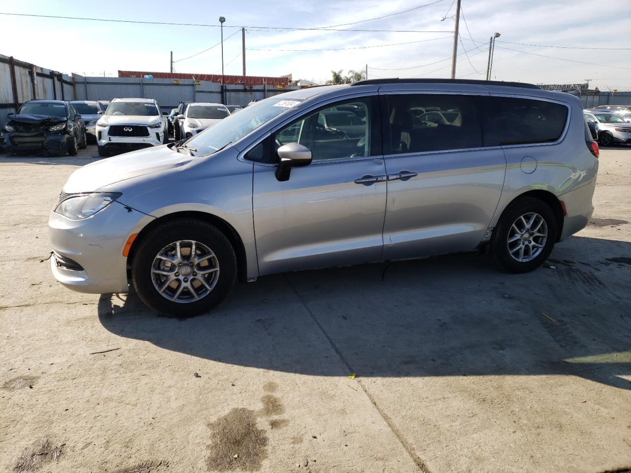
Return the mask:
<path fill-rule="evenodd" d="M 0 54 L 0 127 L 6 115 L 33 98 L 74 100 L 73 81 L 66 74 Z"/>

